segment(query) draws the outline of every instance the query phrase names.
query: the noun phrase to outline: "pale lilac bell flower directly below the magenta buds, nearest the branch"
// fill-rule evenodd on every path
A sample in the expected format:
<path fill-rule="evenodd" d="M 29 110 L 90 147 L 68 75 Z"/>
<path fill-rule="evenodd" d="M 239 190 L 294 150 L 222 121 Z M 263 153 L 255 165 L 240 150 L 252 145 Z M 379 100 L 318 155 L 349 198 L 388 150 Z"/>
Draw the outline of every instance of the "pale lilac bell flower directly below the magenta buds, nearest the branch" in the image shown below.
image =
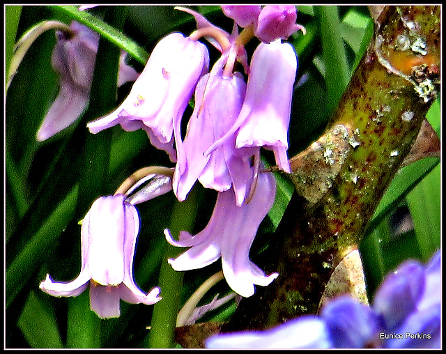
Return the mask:
<path fill-rule="evenodd" d="M 236 147 L 260 147 L 275 154 L 280 169 L 291 172 L 288 162 L 288 128 L 298 59 L 289 43 L 261 43 L 252 55 L 245 101 L 233 127 L 206 153 L 237 132 Z"/>

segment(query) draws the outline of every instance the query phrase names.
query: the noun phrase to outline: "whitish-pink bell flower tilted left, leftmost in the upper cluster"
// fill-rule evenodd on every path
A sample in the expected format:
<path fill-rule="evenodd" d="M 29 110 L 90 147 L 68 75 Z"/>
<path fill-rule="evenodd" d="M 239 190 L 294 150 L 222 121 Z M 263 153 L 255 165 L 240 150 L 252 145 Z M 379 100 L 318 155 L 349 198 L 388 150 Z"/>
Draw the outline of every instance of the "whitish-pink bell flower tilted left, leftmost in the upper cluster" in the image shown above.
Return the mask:
<path fill-rule="evenodd" d="M 171 33 L 153 49 L 143 72 L 124 102 L 111 114 L 90 122 L 93 134 L 120 124 L 124 130 L 146 130 L 151 144 L 176 161 L 174 126 L 194 88 L 209 68 L 208 49 L 182 33 Z"/>

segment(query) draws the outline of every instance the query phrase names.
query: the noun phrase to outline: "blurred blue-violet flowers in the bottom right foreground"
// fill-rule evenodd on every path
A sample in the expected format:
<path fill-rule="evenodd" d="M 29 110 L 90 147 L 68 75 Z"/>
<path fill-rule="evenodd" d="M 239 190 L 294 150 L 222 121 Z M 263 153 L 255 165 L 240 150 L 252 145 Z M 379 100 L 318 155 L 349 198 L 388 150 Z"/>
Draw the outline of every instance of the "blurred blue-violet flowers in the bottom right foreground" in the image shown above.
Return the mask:
<path fill-rule="evenodd" d="M 387 275 L 371 307 L 348 295 L 263 332 L 210 337 L 208 348 L 440 348 L 440 251 L 424 266 L 405 261 Z"/>

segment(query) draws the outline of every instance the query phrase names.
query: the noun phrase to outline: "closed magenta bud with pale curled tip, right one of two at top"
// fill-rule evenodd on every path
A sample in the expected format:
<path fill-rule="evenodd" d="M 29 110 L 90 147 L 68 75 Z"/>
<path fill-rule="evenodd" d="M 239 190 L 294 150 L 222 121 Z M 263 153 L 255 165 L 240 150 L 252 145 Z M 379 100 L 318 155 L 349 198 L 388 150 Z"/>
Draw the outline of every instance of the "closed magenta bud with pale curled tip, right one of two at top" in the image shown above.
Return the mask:
<path fill-rule="evenodd" d="M 254 35 L 263 43 L 286 39 L 304 27 L 296 24 L 298 12 L 294 5 L 267 5 L 262 8 L 256 22 Z"/>

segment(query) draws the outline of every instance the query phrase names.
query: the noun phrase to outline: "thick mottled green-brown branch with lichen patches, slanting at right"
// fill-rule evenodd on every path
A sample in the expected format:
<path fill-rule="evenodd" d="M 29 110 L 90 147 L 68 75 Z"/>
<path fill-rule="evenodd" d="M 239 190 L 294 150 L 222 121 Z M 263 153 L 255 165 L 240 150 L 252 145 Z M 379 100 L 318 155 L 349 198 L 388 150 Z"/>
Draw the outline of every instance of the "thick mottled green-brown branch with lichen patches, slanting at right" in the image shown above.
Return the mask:
<path fill-rule="evenodd" d="M 279 277 L 243 299 L 223 331 L 316 313 L 410 151 L 439 74 L 440 6 L 385 6 L 325 134 L 291 160 L 296 192 L 263 265 Z"/>

